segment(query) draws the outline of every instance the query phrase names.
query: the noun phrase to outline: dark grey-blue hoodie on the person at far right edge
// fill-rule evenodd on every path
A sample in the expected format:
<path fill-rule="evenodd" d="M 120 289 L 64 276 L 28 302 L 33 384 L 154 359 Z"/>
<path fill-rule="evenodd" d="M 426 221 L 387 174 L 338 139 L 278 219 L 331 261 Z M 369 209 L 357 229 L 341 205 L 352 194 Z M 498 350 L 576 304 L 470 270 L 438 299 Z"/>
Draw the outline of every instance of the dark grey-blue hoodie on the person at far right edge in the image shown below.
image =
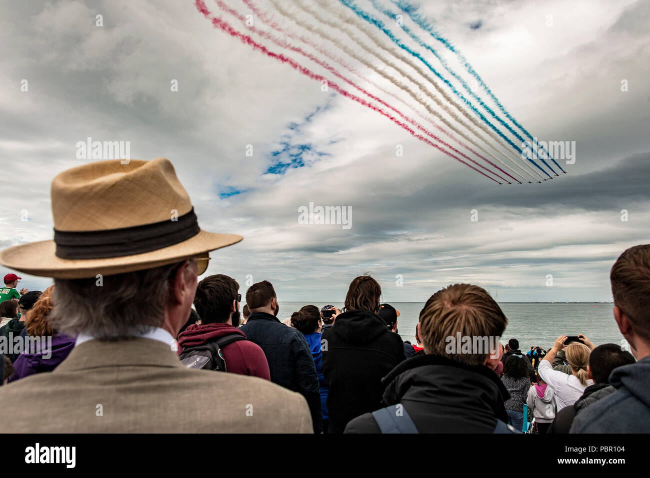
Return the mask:
<path fill-rule="evenodd" d="M 616 392 L 577 414 L 569 433 L 650 432 L 650 356 L 615 368 L 610 384 Z"/>

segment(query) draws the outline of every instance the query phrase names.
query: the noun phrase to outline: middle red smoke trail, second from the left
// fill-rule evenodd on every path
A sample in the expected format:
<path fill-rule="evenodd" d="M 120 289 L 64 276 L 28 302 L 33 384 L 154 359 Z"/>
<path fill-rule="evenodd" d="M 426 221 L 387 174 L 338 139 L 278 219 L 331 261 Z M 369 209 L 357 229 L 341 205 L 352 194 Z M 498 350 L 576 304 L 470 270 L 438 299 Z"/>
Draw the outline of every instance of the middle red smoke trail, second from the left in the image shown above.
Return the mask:
<path fill-rule="evenodd" d="M 502 181 L 508 182 L 508 184 L 512 184 L 510 181 L 508 181 L 508 180 L 505 179 L 504 177 L 501 177 L 500 175 L 498 175 L 498 174 L 495 173 L 494 171 L 490 170 L 489 168 L 486 168 L 486 167 L 483 166 L 482 164 L 480 164 L 480 163 L 474 161 L 472 158 L 468 157 L 468 156 L 465 155 L 464 153 L 461 153 L 461 151 L 458 151 L 458 149 L 454 148 L 452 145 L 450 145 L 450 144 L 448 144 L 447 142 L 441 140 L 441 138 L 438 138 L 437 136 L 435 136 L 435 134 L 433 134 L 432 132 L 430 132 L 430 131 L 424 129 L 424 127 L 422 127 L 422 125 L 420 125 L 420 124 L 417 123 L 416 121 L 413 121 L 413 119 L 409 118 L 408 116 L 402 114 L 402 112 L 396 110 L 396 108 L 391 107 L 391 105 L 389 105 L 388 103 L 385 103 L 385 101 L 383 101 L 382 99 L 380 99 L 380 98 L 378 98 L 378 97 L 376 97 L 376 96 L 370 94 L 369 92 L 367 92 L 367 90 L 364 90 L 363 88 L 361 88 L 361 86 L 358 86 L 356 83 L 350 81 L 349 79 L 347 79 L 346 77 L 344 77 L 343 75 L 341 75 L 341 73 L 339 73 L 339 71 L 337 71 L 337 69 L 333 68 L 332 66 L 330 66 L 330 65 L 327 64 L 326 62 L 320 60 L 319 58 L 315 57 L 314 55 L 311 55 L 311 53 L 307 53 L 307 52 L 305 52 L 303 49 L 301 49 L 301 48 L 299 48 L 299 47 L 295 47 L 295 46 L 289 44 L 288 42 L 285 42 L 285 41 L 282 41 L 282 40 L 278 40 L 278 38 L 272 36 L 272 35 L 269 34 L 268 32 L 261 31 L 261 30 L 255 28 L 255 27 L 253 27 L 252 25 L 247 25 L 246 18 L 245 18 L 243 15 L 239 14 L 239 13 L 238 13 L 236 10 L 234 10 L 233 8 L 230 8 L 229 6 L 227 6 L 227 5 L 226 5 L 222 0 L 215 0 L 215 2 L 216 2 L 216 4 L 217 4 L 217 6 L 218 6 L 219 8 L 221 8 L 221 10 L 223 10 L 224 12 L 227 12 L 227 13 L 231 14 L 232 16 L 235 16 L 237 19 L 239 19 L 239 21 L 240 21 L 241 23 L 244 23 L 244 25 L 246 25 L 246 28 L 248 28 L 248 30 L 254 32 L 255 34 L 258 34 L 258 35 L 261 36 L 262 38 L 266 38 L 266 40 L 270 40 L 271 42 L 274 42 L 274 44 L 278 45 L 279 47 L 282 47 L 282 48 L 285 48 L 285 49 L 289 49 L 289 50 L 291 50 L 291 51 L 295 51 L 296 53 L 299 53 L 299 54 L 302 55 L 303 57 L 305 57 L 305 58 L 309 58 L 309 60 L 315 62 L 315 63 L 318 64 L 319 66 L 322 66 L 322 68 L 327 69 L 328 71 L 330 71 L 330 73 L 332 73 L 333 75 L 335 75 L 337 78 L 342 79 L 342 80 L 345 81 L 346 83 L 350 84 L 350 86 L 353 86 L 354 88 L 356 88 L 357 90 L 359 90 L 361 93 L 363 93 L 363 94 L 369 96 L 370 98 L 374 99 L 375 101 L 378 101 L 378 103 L 384 105 L 385 107 L 387 107 L 387 108 L 389 108 L 389 109 L 395 111 L 396 114 L 398 114 L 400 117 L 402 117 L 403 119 L 405 119 L 406 121 L 408 121 L 408 123 L 410 123 L 411 125 L 417 127 L 417 129 L 419 129 L 420 131 L 424 132 L 424 134 L 427 134 L 428 136 L 430 136 L 431 138 L 433 138 L 435 141 L 439 142 L 440 144 L 444 145 L 444 146 L 447 147 L 448 149 L 454 151 L 454 153 L 457 153 L 457 154 L 460 155 L 461 157 L 463 157 L 463 158 L 465 158 L 465 159 L 467 159 L 467 160 L 473 162 L 474 164 L 476 164 L 476 166 L 479 166 L 480 168 L 483 168 L 484 170 L 486 170 L 486 171 L 488 171 L 489 173 L 495 175 L 496 177 L 498 177 L 498 178 L 501 179 Z M 487 160 L 486 160 L 486 161 L 487 161 Z M 502 170 L 501 168 L 499 168 L 499 166 L 495 165 L 493 162 L 490 162 L 490 161 L 487 161 L 487 162 L 488 162 L 491 166 L 493 166 L 494 168 L 497 168 L 497 170 L 501 171 L 501 172 L 504 173 L 505 175 L 508 175 L 508 176 L 510 176 L 512 179 L 514 179 L 515 181 L 519 182 L 517 179 L 515 179 L 514 177 L 512 177 L 510 174 L 506 173 L 506 171 L 504 171 L 504 170 Z M 521 184 L 521 183 L 520 183 L 520 184 Z"/>

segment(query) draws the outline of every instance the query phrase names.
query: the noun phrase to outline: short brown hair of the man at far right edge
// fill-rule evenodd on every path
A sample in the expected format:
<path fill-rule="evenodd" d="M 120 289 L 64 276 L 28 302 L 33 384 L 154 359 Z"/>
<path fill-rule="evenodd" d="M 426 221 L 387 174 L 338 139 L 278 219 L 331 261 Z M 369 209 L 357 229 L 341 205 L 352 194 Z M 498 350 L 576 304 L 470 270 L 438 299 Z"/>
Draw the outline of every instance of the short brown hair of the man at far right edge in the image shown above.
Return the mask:
<path fill-rule="evenodd" d="M 634 332 L 650 341 L 650 244 L 630 247 L 610 271 L 614 305 L 629 318 Z"/>

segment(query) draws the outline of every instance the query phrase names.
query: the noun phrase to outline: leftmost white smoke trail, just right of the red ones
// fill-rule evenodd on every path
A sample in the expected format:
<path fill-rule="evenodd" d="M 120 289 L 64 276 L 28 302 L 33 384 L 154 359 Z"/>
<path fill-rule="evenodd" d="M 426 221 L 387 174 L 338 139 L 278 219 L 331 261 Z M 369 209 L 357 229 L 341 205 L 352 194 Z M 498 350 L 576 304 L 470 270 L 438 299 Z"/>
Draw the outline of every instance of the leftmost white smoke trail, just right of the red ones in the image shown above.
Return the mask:
<path fill-rule="evenodd" d="M 450 128 L 452 131 L 456 132 L 456 134 L 461 136 L 461 138 L 464 138 L 465 140 L 467 140 L 467 142 L 469 142 L 470 144 L 473 144 L 477 149 L 480 149 L 480 151 L 482 151 L 483 153 L 485 153 L 489 157 L 493 158 L 494 160 L 496 160 L 497 162 L 502 164 L 502 166 L 505 166 L 506 168 L 508 168 L 510 171 L 512 171 L 513 173 L 515 173 L 519 177 L 522 177 L 524 179 L 524 181 L 528 181 L 528 179 L 524 178 L 521 175 L 521 173 L 518 173 L 517 171 L 514 171 L 512 168 L 510 168 L 510 166 L 508 166 L 507 164 L 504 164 L 504 162 L 502 162 L 502 160 L 500 160 L 499 157 L 496 157 L 495 155 L 493 155 L 493 153 L 491 153 L 490 151 L 487 151 L 486 148 L 484 148 L 481 144 L 476 142 L 471 136 L 468 136 L 464 132 L 460 131 L 453 123 L 450 123 L 450 121 L 448 121 L 447 118 L 445 118 L 437 110 L 432 108 L 429 105 L 429 103 L 428 103 L 428 101 L 426 99 L 422 98 L 421 93 L 413 92 L 411 90 L 411 88 L 407 84 L 404 84 L 403 82 L 399 81 L 393 75 L 389 75 L 387 72 L 383 71 L 383 69 L 377 68 L 374 64 L 372 64 L 372 62 L 369 62 L 365 58 L 358 55 L 354 50 L 350 49 L 350 47 L 348 47 L 348 45 L 341 42 L 335 36 L 331 36 L 331 34 L 329 34 L 328 32 L 323 31 L 323 29 L 321 29 L 317 25 L 311 25 L 310 23 L 306 23 L 305 21 L 300 19 L 300 17 L 298 15 L 293 14 L 292 12 L 287 10 L 287 8 L 285 8 L 283 5 L 280 5 L 279 0 L 269 0 L 269 1 L 274 6 L 274 8 L 276 8 L 276 10 L 278 10 L 278 12 L 280 12 L 286 18 L 290 19 L 293 23 L 295 23 L 299 27 L 302 27 L 303 29 L 305 29 L 305 30 L 307 30 L 307 31 L 309 31 L 311 33 L 317 34 L 318 36 L 320 36 L 320 38 L 329 41 L 331 44 L 334 44 L 336 47 L 338 47 L 339 49 L 344 51 L 344 53 L 346 53 L 346 55 L 348 55 L 349 57 L 354 58 L 354 60 L 356 60 L 357 62 L 365 65 L 367 68 L 371 69 L 372 71 L 375 71 L 378 75 L 382 76 L 384 79 L 386 79 L 387 81 L 391 82 L 392 84 L 394 84 L 395 86 L 400 88 L 400 90 L 402 90 L 402 91 L 406 92 L 407 94 L 409 94 L 413 99 L 415 99 L 415 101 L 417 101 L 417 103 L 420 103 L 424 108 L 426 108 L 426 110 L 430 114 L 432 114 L 436 118 L 438 118 L 442 123 L 447 125 L 448 128 Z M 353 40 L 354 40 L 354 38 L 353 38 Z M 369 53 L 371 55 L 375 56 L 372 51 L 369 51 Z M 445 108 L 443 105 L 441 105 L 441 109 L 443 109 L 445 111 L 448 110 L 448 108 Z M 450 112 L 448 112 L 448 114 L 450 114 L 450 116 L 453 117 L 453 114 L 451 114 Z M 457 116 L 456 116 L 456 118 L 457 118 Z M 459 121 L 465 128 L 469 129 L 469 131 L 471 131 L 475 136 L 480 138 L 480 134 L 478 134 L 478 132 L 474 131 L 471 127 L 469 127 L 469 125 L 467 125 L 460 118 L 456 119 L 456 121 Z M 489 143 L 487 143 L 487 142 L 486 142 L 486 144 L 489 145 Z M 497 151 L 497 152 L 499 152 L 499 151 Z M 525 172 L 527 172 L 527 171 L 525 171 Z M 534 181 L 538 181 L 534 177 L 533 177 L 533 179 L 534 179 Z"/>

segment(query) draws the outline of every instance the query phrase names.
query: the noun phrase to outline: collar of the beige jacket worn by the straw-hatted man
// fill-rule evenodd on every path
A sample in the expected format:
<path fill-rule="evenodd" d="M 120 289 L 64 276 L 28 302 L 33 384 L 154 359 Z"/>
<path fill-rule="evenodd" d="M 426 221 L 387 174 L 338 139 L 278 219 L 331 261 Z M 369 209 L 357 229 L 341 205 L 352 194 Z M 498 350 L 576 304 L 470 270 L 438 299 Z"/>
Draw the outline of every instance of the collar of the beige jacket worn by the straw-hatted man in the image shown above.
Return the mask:
<path fill-rule="evenodd" d="M 185 368 L 172 347 L 150 338 L 88 340 L 74 347 L 52 373 L 97 367 L 156 366 Z"/>

